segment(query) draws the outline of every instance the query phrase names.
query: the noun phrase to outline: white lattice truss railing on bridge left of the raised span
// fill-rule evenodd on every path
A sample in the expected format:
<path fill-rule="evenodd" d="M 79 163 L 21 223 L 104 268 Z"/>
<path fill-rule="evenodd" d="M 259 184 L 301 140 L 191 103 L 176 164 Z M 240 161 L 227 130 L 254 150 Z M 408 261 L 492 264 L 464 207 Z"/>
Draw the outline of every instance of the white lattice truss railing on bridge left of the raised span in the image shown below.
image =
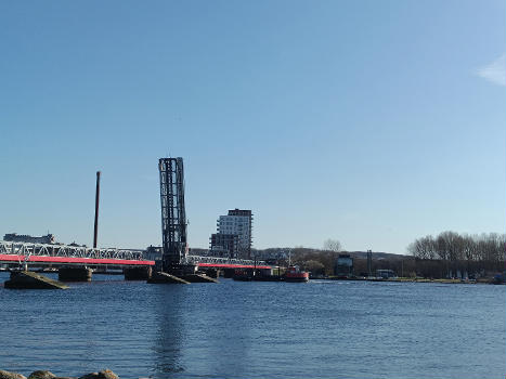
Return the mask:
<path fill-rule="evenodd" d="M 102 248 L 93 249 L 85 246 L 27 244 L 0 240 L 0 254 L 48 256 L 95 259 L 143 260 L 143 250 Z"/>

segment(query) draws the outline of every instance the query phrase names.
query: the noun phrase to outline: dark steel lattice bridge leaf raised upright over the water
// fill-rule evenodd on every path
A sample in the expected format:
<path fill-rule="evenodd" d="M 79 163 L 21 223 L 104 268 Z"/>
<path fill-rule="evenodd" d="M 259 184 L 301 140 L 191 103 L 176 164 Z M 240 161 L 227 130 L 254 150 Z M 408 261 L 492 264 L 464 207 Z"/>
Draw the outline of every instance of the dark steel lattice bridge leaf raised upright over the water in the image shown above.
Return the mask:
<path fill-rule="evenodd" d="M 159 171 L 164 247 L 161 270 L 168 272 L 184 263 L 187 253 L 183 158 L 160 158 Z"/>

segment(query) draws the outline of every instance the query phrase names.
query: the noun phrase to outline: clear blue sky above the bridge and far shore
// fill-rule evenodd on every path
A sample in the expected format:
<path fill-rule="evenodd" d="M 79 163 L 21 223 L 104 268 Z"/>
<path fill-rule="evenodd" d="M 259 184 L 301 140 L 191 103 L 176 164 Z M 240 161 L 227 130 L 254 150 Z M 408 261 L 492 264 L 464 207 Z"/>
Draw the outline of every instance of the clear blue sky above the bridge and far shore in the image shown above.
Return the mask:
<path fill-rule="evenodd" d="M 182 156 L 191 247 L 404 253 L 505 231 L 503 0 L 2 1 L 0 234 L 159 245 Z"/>

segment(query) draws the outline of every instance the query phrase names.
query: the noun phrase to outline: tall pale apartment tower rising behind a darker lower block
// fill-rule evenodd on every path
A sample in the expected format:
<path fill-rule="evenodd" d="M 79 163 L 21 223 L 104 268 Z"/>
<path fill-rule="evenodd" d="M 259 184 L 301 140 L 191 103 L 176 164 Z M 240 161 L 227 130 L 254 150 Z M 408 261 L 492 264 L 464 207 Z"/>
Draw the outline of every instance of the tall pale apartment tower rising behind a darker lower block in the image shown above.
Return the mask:
<path fill-rule="evenodd" d="M 252 213 L 246 209 L 231 209 L 218 219 L 218 234 L 237 235 L 237 252 L 241 258 L 251 258 Z"/>

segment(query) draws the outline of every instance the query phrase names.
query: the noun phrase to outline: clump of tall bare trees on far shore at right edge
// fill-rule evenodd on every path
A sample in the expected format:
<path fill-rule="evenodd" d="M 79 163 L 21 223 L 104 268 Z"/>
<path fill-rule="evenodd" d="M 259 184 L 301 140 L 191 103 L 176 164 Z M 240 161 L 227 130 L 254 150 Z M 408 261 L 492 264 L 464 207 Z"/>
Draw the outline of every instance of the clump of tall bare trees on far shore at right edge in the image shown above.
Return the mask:
<path fill-rule="evenodd" d="M 504 271 L 506 235 L 442 232 L 425 236 L 407 247 L 415 257 L 416 271 L 426 277 L 480 276 Z"/>

